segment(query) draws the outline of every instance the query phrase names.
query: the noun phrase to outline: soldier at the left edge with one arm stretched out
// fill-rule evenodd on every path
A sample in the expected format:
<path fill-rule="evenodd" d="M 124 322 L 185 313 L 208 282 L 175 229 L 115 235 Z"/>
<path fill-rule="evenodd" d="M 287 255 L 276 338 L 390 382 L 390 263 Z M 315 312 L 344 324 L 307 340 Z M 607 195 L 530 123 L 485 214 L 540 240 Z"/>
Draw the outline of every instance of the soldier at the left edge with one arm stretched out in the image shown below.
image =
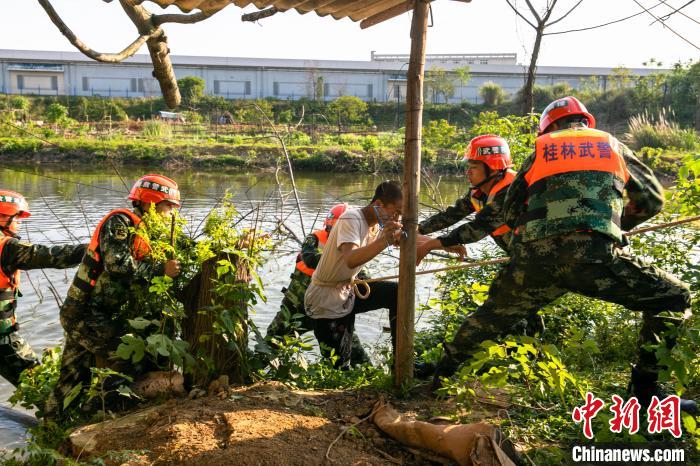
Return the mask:
<path fill-rule="evenodd" d="M 23 370 L 39 364 L 31 346 L 19 334 L 15 317 L 20 270 L 65 269 L 76 266 L 86 245 L 47 247 L 20 241 L 17 234 L 22 219 L 29 217 L 24 196 L 0 190 L 0 375 L 17 386 Z"/>

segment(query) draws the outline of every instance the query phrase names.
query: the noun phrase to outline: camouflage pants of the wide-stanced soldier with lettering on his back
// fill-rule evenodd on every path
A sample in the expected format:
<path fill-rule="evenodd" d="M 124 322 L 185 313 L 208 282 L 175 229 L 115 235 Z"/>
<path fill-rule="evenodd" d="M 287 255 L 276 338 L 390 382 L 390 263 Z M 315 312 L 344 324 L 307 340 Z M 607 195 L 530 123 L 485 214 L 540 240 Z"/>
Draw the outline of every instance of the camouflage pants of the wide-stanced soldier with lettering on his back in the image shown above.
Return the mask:
<path fill-rule="evenodd" d="M 656 357 L 642 345 L 656 343 L 655 335 L 666 329 L 667 322 L 677 325 L 676 319 L 658 314 L 690 307 L 690 292 L 684 283 L 621 250 L 603 263 L 511 261 L 494 278 L 486 302 L 464 320 L 454 341 L 445 344 L 443 372 L 449 375 L 482 341 L 498 338 L 513 322 L 531 317 L 569 291 L 641 312 L 638 367 L 652 373 L 658 371 Z"/>

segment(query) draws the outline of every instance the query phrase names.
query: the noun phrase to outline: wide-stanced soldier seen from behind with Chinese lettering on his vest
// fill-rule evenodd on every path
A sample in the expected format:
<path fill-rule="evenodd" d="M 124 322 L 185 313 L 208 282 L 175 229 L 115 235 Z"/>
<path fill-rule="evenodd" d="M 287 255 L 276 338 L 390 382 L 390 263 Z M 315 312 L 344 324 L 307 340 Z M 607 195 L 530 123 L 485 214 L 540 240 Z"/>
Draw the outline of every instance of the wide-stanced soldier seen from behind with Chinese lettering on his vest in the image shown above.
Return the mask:
<path fill-rule="evenodd" d="M 595 118 L 574 97 L 556 100 L 542 113 L 535 152 L 503 204 L 505 223 L 514 230 L 511 260 L 494 278 L 486 302 L 444 345 L 434 388 L 482 341 L 498 338 L 509 322 L 573 291 L 642 313 L 630 391 L 645 408 L 652 396 L 665 396 L 656 355 L 644 345 L 655 344 L 667 325 L 687 317 L 690 292 L 621 248 L 622 230 L 661 211 L 663 190 L 629 148 L 594 128 Z M 681 409 L 697 413 L 692 400 L 681 400 Z"/>

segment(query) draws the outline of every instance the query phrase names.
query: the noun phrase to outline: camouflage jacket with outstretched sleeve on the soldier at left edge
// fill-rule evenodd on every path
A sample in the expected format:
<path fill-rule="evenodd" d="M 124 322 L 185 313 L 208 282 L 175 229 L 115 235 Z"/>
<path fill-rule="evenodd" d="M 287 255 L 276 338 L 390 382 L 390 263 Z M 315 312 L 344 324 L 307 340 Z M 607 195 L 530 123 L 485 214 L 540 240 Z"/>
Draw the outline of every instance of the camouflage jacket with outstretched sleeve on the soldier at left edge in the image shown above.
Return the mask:
<path fill-rule="evenodd" d="M 86 244 L 42 246 L 11 238 L 2 250 L 0 266 L 8 277 L 17 270 L 66 269 L 80 263 L 86 247 Z M 7 314 L 7 318 L 0 319 L 0 333 L 6 332 L 13 326 L 14 315 L 10 314 L 13 313 L 16 305 L 15 300 L 0 301 L 0 312 Z"/>

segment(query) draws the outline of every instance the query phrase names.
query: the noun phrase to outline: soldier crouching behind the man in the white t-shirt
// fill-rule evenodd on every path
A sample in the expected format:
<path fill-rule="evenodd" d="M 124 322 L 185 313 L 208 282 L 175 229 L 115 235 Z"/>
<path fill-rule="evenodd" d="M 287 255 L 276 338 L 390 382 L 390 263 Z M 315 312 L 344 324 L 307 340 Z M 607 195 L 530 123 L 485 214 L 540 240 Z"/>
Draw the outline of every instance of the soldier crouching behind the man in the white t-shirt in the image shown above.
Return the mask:
<path fill-rule="evenodd" d="M 301 245 L 301 252 L 297 255 L 296 266 L 291 275 L 291 281 L 287 288 L 282 289 L 284 298 L 279 312 L 275 315 L 267 327 L 265 339 L 281 340 L 285 335 L 292 335 L 295 331 L 302 335 L 313 328 L 312 319 L 304 311 L 304 293 L 311 283 L 311 275 L 318 266 L 323 254 L 323 247 L 328 240 L 333 226 L 341 215 L 347 210 L 347 204 L 334 206 L 324 221 L 323 230 L 317 230 L 309 234 Z M 361 278 L 367 278 L 362 272 Z M 352 339 L 351 360 L 355 364 L 369 363 L 370 358 L 362 347 L 362 343 L 356 334 Z"/>

